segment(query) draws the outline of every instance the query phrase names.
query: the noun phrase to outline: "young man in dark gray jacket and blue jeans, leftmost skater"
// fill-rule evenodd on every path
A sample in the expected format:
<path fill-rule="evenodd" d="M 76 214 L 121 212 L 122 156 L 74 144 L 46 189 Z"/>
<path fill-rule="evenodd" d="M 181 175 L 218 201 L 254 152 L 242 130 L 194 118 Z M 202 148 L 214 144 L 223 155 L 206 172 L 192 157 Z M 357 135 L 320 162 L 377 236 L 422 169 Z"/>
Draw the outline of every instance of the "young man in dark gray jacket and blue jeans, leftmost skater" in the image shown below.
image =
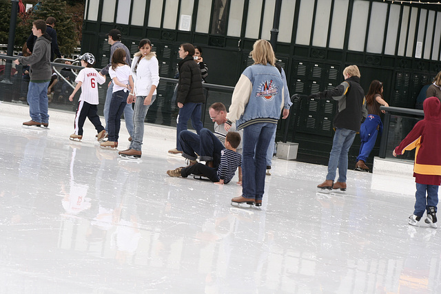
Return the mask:
<path fill-rule="evenodd" d="M 52 40 L 46 34 L 46 22 L 43 19 L 37 19 L 32 23 L 32 34 L 37 36 L 32 55 L 19 57 L 14 61 L 16 65 L 20 63 L 30 65 L 28 104 L 31 120 L 26 121 L 23 125 L 48 127 L 48 85 L 52 75 L 50 68 L 50 43 Z"/>

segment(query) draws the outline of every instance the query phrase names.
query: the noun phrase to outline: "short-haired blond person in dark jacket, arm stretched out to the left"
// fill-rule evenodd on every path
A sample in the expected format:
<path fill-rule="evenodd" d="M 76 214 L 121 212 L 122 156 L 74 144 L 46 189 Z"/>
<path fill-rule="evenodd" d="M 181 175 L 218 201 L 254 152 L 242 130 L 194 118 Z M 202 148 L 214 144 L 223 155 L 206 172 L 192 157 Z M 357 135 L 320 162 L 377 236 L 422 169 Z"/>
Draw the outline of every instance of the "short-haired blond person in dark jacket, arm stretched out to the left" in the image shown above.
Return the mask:
<path fill-rule="evenodd" d="M 357 65 L 349 65 L 343 70 L 345 81 L 333 90 L 320 92 L 311 96 L 338 101 L 337 114 L 334 116 L 334 140 L 329 155 L 328 174 L 319 189 L 346 190 L 347 154 L 353 138 L 360 132 L 360 125 L 367 117 L 365 92 L 360 86 L 360 70 Z M 338 167 L 338 180 L 334 184 Z"/>

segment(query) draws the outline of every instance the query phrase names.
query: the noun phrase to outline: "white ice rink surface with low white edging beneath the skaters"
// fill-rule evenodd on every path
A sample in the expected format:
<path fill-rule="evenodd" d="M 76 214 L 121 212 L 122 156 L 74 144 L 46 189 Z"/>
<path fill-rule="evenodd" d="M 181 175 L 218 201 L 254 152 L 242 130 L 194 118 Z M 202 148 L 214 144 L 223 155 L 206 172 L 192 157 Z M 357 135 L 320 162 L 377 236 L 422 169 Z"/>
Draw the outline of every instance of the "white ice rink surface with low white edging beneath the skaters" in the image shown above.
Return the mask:
<path fill-rule="evenodd" d="M 241 209 L 236 180 L 165 174 L 185 165 L 176 129 L 147 125 L 136 162 L 49 113 L 25 128 L 28 107 L 0 104 L 0 293 L 441 293 L 411 176 L 348 171 L 346 193 L 317 193 L 327 167 L 275 158 L 262 210 Z"/>

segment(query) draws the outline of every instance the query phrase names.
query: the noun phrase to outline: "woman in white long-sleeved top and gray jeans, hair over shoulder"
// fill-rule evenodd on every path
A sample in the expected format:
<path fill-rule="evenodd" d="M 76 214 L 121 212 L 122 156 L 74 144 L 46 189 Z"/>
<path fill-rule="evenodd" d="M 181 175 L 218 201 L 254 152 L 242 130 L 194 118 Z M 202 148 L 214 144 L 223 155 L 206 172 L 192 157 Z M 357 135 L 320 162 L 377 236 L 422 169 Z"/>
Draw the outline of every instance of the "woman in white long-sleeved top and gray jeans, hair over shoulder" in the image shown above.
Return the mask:
<path fill-rule="evenodd" d="M 156 54 L 151 52 L 149 39 L 139 42 L 139 52 L 132 61 L 134 89 L 127 98 L 127 103 L 135 103 L 133 112 L 134 136 L 127 150 L 119 151 L 121 157 L 141 158 L 141 145 L 144 137 L 144 120 L 147 111 L 156 99 L 156 87 L 159 83 L 159 65 Z"/>

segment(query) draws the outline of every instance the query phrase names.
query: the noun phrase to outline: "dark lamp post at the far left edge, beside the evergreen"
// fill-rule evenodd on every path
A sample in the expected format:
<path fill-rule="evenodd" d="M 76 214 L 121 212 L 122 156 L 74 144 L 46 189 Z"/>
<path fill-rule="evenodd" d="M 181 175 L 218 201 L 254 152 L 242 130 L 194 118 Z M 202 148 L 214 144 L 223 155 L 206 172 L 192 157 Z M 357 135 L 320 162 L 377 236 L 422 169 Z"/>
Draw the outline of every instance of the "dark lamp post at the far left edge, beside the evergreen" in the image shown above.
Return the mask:
<path fill-rule="evenodd" d="M 17 24 L 17 14 L 19 12 L 19 0 L 11 0 L 12 7 L 11 7 L 11 19 L 9 23 L 9 39 L 8 39 L 8 56 L 12 56 L 14 54 L 14 39 L 15 39 L 15 25 Z M 11 95 L 7 95 L 7 93 L 10 94 L 12 82 L 11 82 L 11 68 L 12 68 L 12 61 L 8 60 L 6 61 L 5 65 L 5 72 L 3 74 L 3 81 L 1 81 L 1 88 L 3 88 L 3 99 L 6 100 L 5 96 L 8 97 L 8 101 L 11 101 Z M 9 91 L 8 91 L 9 90 Z"/>

